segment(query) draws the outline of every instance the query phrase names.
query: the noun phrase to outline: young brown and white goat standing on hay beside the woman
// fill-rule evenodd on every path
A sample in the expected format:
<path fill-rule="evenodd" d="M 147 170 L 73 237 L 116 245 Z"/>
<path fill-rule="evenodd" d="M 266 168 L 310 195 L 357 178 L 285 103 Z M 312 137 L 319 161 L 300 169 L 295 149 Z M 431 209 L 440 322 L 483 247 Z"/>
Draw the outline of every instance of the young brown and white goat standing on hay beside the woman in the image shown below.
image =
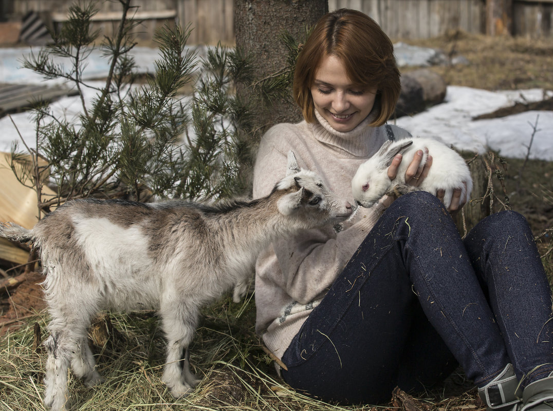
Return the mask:
<path fill-rule="evenodd" d="M 158 310 L 168 343 L 162 380 L 174 397 L 190 393 L 199 380 L 190 371 L 188 347 L 201 306 L 247 281 L 272 241 L 351 213 L 347 201 L 335 198 L 314 172 L 300 170 L 289 152 L 286 177 L 265 198 L 216 207 L 82 199 L 60 206 L 32 230 L 0 225 L 3 237 L 40 249 L 52 317 L 44 343 L 44 403 L 65 410 L 69 367 L 87 386 L 101 381 L 87 328 L 102 309 Z"/>

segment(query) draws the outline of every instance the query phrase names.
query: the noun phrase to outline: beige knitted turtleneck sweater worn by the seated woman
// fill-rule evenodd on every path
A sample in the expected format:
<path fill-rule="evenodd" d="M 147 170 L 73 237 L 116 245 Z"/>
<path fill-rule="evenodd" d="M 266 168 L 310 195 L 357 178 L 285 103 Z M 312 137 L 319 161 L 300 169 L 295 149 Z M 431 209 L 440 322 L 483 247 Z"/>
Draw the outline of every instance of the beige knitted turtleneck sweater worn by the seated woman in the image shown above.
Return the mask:
<path fill-rule="evenodd" d="M 388 139 L 387 132 L 384 127 L 368 126 L 372 115 L 352 131 L 341 133 L 315 114 L 319 121 L 314 124 L 277 124 L 263 136 L 254 168 L 254 198 L 267 196 L 284 177 L 288 150 L 292 150 L 301 168 L 317 172 L 332 192 L 353 203 L 351 178 Z M 404 129 L 392 129 L 395 139 L 409 136 Z M 274 243 L 258 257 L 255 328 L 277 357 L 282 357 L 382 211 L 380 204 L 359 208 L 353 224 L 340 233 L 331 226 L 304 231 Z"/>

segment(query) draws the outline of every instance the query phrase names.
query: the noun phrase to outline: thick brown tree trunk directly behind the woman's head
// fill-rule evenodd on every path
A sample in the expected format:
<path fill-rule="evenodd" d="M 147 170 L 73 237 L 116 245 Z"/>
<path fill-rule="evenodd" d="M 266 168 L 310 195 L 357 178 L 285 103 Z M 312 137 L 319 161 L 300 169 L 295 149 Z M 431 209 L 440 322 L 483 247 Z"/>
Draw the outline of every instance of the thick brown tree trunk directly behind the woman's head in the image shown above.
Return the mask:
<path fill-rule="evenodd" d="M 234 0 L 236 46 L 253 57 L 254 82 L 286 67 L 288 51 L 279 39 L 284 30 L 300 39 L 305 28 L 327 11 L 327 0 Z M 246 85 L 238 85 L 237 93 L 259 110 L 255 119 L 259 136 L 276 123 L 301 120 L 301 111 L 291 98 L 273 101 L 268 107 Z"/>

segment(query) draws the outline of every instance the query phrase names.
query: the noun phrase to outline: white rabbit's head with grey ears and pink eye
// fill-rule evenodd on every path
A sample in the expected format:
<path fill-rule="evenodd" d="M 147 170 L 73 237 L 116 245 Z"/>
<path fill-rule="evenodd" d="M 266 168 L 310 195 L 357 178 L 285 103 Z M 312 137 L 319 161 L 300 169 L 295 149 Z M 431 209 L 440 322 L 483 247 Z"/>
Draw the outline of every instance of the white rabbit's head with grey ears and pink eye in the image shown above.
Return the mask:
<path fill-rule="evenodd" d="M 390 188 L 392 181 L 388 177 L 388 167 L 394 157 L 403 153 L 413 144 L 412 140 L 402 141 L 401 144 L 386 141 L 377 154 L 365 161 L 351 180 L 351 190 L 355 201 L 363 207 L 374 206 Z"/>

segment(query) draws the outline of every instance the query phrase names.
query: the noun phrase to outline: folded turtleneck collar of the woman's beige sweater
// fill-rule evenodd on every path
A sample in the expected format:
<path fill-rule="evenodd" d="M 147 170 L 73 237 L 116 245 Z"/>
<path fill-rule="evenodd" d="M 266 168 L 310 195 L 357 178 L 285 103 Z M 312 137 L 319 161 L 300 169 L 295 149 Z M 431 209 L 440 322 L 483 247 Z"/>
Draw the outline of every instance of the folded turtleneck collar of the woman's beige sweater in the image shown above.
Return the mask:
<path fill-rule="evenodd" d="M 369 114 L 361 123 L 351 131 L 336 131 L 315 109 L 315 117 L 318 123 L 312 125 L 315 138 L 321 143 L 336 146 L 349 152 L 356 157 L 366 157 L 372 148 L 369 148 L 371 140 L 378 128 L 370 127 L 369 124 L 376 117 L 375 110 Z"/>

